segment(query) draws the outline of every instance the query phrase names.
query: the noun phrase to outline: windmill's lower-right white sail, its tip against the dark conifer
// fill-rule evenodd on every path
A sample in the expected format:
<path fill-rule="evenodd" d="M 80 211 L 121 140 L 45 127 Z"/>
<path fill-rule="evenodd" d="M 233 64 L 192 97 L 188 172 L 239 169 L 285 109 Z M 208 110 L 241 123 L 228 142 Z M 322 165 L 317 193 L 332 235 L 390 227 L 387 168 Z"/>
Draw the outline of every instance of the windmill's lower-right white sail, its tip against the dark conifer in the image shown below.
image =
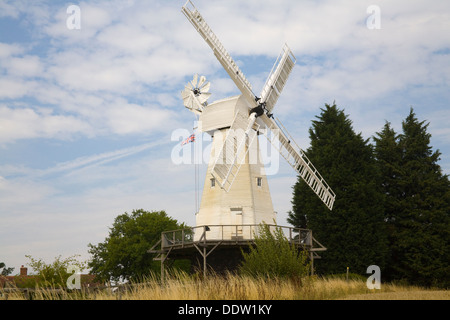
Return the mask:
<path fill-rule="evenodd" d="M 300 177 L 302 177 L 320 200 L 332 210 L 336 195 L 311 161 L 306 157 L 303 150 L 298 146 L 294 147 L 295 142 L 292 138 L 288 138 L 273 119 L 270 119 L 267 116 L 263 116 L 262 119 L 266 128 L 270 129 L 272 133 L 272 135 L 269 136 L 267 129 L 262 130 L 266 138 L 276 149 L 278 149 L 283 158 L 285 158 L 292 168 L 297 171 Z"/>

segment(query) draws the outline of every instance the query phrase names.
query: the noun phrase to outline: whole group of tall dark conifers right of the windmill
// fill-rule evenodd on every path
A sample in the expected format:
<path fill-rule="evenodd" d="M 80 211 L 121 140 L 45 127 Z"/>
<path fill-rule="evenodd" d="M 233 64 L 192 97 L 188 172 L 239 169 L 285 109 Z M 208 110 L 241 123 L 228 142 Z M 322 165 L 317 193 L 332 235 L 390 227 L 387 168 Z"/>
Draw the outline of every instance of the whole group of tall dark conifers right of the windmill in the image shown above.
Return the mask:
<path fill-rule="evenodd" d="M 450 182 L 429 123 L 411 109 L 401 134 L 386 122 L 372 146 L 335 105 L 317 118 L 306 153 L 335 191 L 335 206 L 328 211 L 299 178 L 288 219 L 327 247 L 317 271 L 365 274 L 375 264 L 388 281 L 450 287 Z"/>

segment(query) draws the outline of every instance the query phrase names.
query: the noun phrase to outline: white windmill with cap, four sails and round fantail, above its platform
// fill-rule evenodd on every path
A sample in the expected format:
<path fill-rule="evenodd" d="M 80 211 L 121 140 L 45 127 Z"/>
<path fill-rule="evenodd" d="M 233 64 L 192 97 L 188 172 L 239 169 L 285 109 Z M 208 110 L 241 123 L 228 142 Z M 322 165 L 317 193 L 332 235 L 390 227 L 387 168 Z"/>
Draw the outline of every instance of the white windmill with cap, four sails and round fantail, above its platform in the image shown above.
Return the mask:
<path fill-rule="evenodd" d="M 239 96 L 208 104 L 210 83 L 205 77 L 195 75 L 181 93 L 185 107 L 199 117 L 199 130 L 213 137 L 197 226 L 211 226 L 208 227 L 209 239 L 248 239 L 251 237 L 246 234 L 249 231 L 239 226 L 276 221 L 259 156 L 259 134 L 267 137 L 324 205 L 332 210 L 334 192 L 273 116 L 276 102 L 296 63 L 290 48 L 286 44 L 283 46 L 261 94 L 256 96 L 250 82 L 190 0 L 182 7 L 182 12 L 241 91 Z M 217 229 L 215 234 L 212 226 L 216 225 L 236 227 Z"/>

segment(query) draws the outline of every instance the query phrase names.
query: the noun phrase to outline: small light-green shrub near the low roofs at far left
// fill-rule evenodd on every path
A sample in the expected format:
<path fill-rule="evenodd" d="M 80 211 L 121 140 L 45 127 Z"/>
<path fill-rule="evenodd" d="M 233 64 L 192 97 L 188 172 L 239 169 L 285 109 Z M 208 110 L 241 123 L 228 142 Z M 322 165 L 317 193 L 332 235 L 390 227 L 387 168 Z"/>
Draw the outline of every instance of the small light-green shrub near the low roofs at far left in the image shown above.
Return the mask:
<path fill-rule="evenodd" d="M 73 274 L 72 272 L 68 272 L 69 267 L 77 267 L 80 271 L 86 268 L 86 262 L 80 262 L 78 260 L 79 255 L 73 255 L 65 259 L 58 256 L 55 258 L 55 261 L 49 264 L 45 263 L 42 259 L 35 259 L 30 255 L 25 255 L 25 257 L 30 260 L 28 266 L 34 269 L 37 277 L 32 280 L 23 279 L 22 281 L 16 281 L 19 287 L 34 287 L 35 285 L 39 285 L 40 287 L 65 288 L 67 279 Z"/>

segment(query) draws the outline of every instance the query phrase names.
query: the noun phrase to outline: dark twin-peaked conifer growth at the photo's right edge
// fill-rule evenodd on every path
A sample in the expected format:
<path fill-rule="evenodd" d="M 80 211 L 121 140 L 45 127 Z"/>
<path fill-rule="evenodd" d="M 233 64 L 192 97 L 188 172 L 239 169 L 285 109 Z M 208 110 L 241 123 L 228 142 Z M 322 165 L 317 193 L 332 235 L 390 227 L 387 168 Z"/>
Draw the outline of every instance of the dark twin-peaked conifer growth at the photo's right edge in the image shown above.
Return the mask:
<path fill-rule="evenodd" d="M 414 110 L 395 135 L 388 124 L 375 138 L 386 196 L 390 242 L 387 276 L 419 285 L 448 287 L 450 183 L 430 146 L 429 123 Z"/>

